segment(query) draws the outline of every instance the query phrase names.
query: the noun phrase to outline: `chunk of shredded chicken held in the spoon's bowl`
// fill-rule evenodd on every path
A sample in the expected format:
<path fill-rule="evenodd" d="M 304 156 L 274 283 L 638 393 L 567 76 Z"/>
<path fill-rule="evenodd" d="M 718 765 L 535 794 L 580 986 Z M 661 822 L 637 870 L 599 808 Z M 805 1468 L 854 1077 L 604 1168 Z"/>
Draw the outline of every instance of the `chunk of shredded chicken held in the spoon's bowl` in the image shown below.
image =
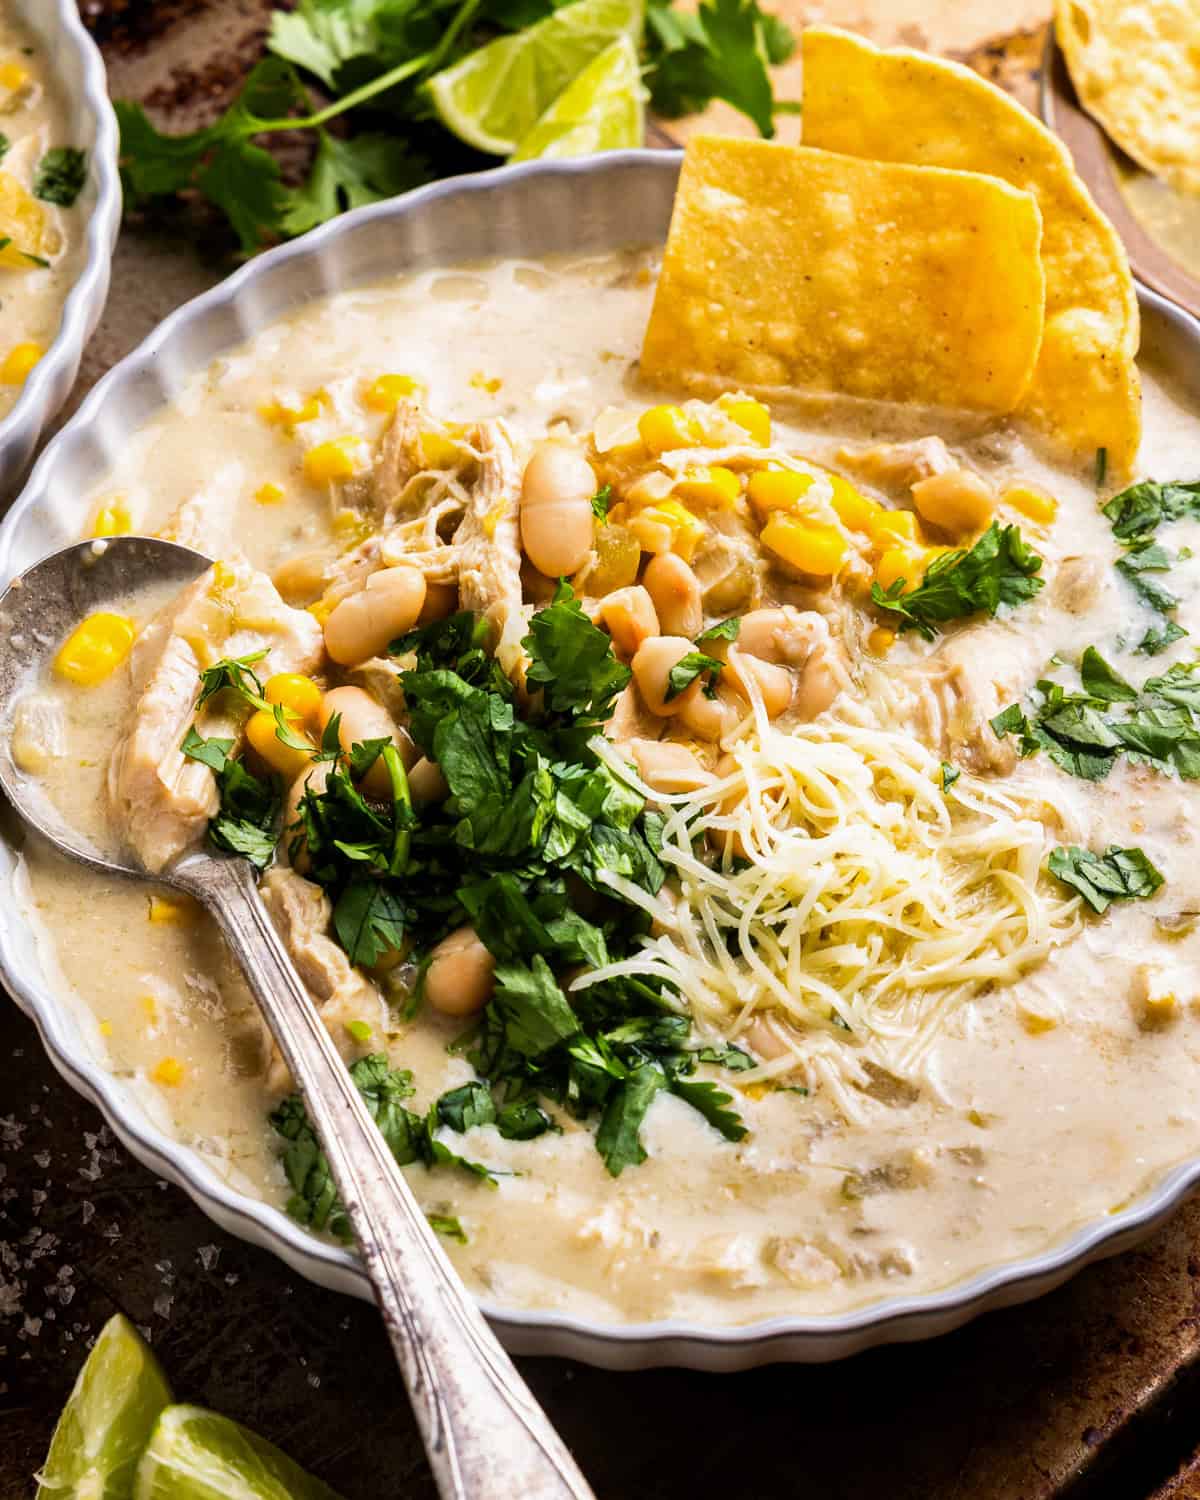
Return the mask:
<path fill-rule="evenodd" d="M 164 870 L 198 843 L 218 810 L 212 771 L 180 752 L 201 669 L 262 648 L 266 675 L 310 672 L 321 660 L 321 627 L 306 610 L 290 609 L 248 562 L 208 568 L 142 630 L 130 660 L 136 705 L 112 754 L 108 795 L 147 870 Z M 206 710 L 200 724 L 206 736 L 237 738 L 238 729 L 216 710 Z"/>

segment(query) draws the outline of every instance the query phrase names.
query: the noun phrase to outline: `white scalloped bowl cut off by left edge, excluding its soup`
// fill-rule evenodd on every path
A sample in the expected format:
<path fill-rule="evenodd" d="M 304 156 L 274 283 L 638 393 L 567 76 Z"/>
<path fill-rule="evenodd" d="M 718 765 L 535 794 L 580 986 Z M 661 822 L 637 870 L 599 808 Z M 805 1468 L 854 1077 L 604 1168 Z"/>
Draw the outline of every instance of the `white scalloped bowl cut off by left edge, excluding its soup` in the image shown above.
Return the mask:
<path fill-rule="evenodd" d="M 112 246 L 122 219 L 117 172 L 117 118 L 108 102 L 104 60 L 80 21 L 75 0 L 9 0 L 18 21 L 46 48 L 50 69 L 68 105 L 68 136 L 87 152 L 81 194 L 86 254 L 58 322 L 58 332 L 33 366 L 16 404 L 0 422 L 0 498 L 21 477 L 46 423 L 58 412 L 108 298 Z"/>

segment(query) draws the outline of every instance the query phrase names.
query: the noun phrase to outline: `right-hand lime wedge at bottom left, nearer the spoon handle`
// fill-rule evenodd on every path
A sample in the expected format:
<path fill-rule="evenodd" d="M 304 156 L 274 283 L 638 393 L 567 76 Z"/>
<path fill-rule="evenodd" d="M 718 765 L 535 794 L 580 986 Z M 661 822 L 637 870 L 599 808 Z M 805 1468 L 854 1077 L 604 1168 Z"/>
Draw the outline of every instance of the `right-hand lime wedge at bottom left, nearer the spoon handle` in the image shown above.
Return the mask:
<path fill-rule="evenodd" d="M 204 1407 L 166 1407 L 138 1464 L 134 1500 L 338 1500 L 286 1454 Z"/>

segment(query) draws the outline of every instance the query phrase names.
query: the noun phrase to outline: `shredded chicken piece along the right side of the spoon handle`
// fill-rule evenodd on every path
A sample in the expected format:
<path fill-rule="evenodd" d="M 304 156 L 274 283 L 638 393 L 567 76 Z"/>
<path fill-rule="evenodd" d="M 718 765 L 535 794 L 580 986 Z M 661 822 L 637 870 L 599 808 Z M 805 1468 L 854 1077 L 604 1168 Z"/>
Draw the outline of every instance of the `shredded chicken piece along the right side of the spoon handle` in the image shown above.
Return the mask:
<path fill-rule="evenodd" d="M 306 880 L 296 870 L 276 866 L 264 876 L 260 891 L 321 1020 L 338 1050 L 350 1060 L 354 1054 L 346 1030 L 350 1022 L 366 1022 L 378 1036 L 387 1030 L 382 996 L 328 936 L 333 909 L 320 885 Z M 268 1086 L 282 1092 L 290 1083 L 286 1064 L 272 1042 Z"/>

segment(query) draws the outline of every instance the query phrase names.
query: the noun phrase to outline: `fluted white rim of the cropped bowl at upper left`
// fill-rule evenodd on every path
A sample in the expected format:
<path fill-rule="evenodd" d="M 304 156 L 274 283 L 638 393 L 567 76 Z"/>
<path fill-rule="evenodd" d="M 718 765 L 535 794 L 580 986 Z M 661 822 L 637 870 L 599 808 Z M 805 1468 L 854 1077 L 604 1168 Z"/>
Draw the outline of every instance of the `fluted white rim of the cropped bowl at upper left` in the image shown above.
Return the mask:
<path fill-rule="evenodd" d="M 108 98 L 108 75 L 100 50 L 84 27 L 75 0 L 42 3 L 46 9 L 39 15 L 39 24 L 52 22 L 46 30 L 74 51 L 80 64 L 82 90 L 76 104 L 94 123 L 88 171 L 96 184 L 96 201 L 84 232 L 84 264 L 66 294 L 54 338 L 26 378 L 12 411 L 0 420 L 0 464 L 8 454 L 14 459 L 9 480 L 20 477 L 42 429 L 70 394 L 84 346 L 108 298 L 112 249 L 122 219 L 117 116 Z M 0 483 L 3 478 L 0 471 Z"/>

